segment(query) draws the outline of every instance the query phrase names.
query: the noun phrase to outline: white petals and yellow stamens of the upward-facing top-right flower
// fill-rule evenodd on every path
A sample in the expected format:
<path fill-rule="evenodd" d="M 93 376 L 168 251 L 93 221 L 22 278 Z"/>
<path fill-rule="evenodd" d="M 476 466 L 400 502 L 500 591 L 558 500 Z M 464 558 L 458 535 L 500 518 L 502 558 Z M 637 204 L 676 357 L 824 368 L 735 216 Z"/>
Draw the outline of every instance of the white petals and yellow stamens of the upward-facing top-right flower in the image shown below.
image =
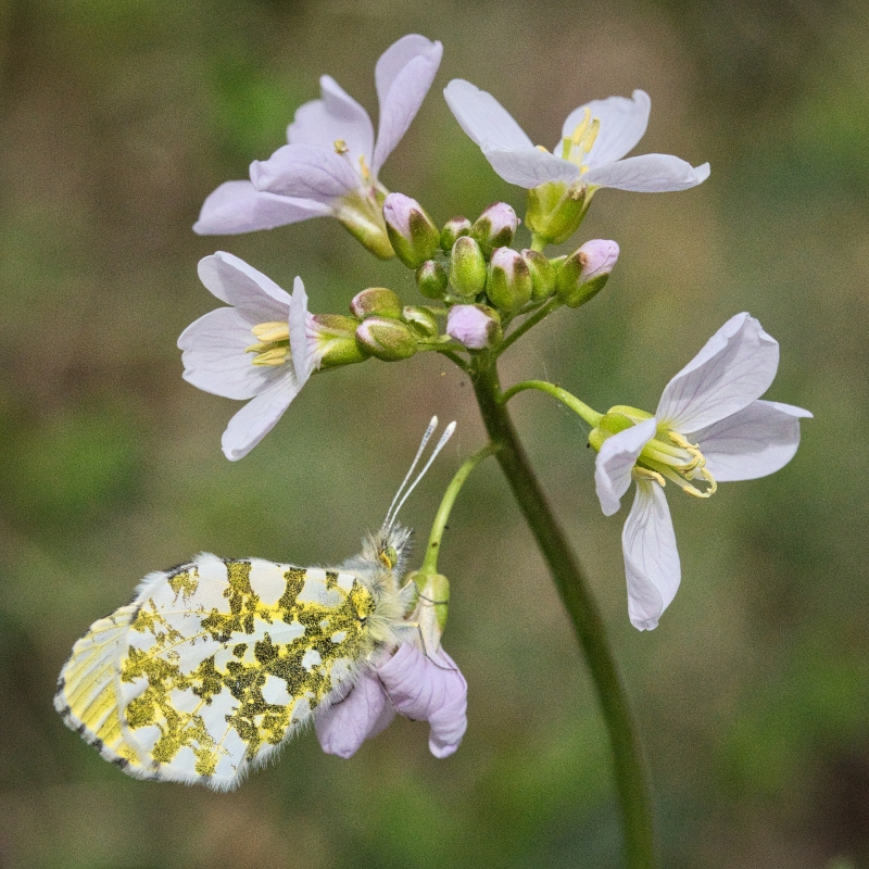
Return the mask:
<path fill-rule="evenodd" d="M 533 188 L 547 181 L 581 180 L 589 189 L 615 187 L 643 193 L 685 190 L 709 177 L 709 164 L 692 167 L 669 154 L 624 160 L 648 123 L 648 95 L 609 97 L 575 109 L 564 122 L 552 153 L 534 147 L 522 128 L 491 93 L 461 78 L 443 91 L 462 129 L 478 144 L 505 180 Z"/>

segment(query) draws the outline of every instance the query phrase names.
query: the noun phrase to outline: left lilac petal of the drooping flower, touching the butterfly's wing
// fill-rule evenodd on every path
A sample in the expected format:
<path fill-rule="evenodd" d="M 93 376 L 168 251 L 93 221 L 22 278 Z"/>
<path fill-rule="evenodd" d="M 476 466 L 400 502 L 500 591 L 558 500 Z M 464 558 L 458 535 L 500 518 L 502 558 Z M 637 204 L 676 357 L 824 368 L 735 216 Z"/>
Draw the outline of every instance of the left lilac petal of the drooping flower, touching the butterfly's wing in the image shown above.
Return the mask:
<path fill-rule="evenodd" d="M 365 740 L 386 729 L 394 717 L 395 709 L 380 680 L 365 670 L 342 701 L 315 713 L 314 730 L 326 754 L 348 758 Z"/>

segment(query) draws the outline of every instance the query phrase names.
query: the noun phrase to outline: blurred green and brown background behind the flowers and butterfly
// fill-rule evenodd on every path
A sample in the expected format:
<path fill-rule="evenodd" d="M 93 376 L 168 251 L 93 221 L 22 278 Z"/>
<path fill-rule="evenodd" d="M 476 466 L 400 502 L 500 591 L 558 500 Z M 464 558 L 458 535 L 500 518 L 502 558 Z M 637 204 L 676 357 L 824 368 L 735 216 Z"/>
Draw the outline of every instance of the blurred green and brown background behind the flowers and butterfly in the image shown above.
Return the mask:
<path fill-rule="evenodd" d="M 621 518 L 605 520 L 581 423 L 512 403 L 589 569 L 639 718 L 668 869 L 869 866 L 869 24 L 854 0 L 12 0 L 0 9 L 0 865 L 619 865 L 606 735 L 540 556 L 498 468 L 470 479 L 441 568 L 445 642 L 470 684 L 459 752 L 399 721 L 349 761 L 313 734 L 238 792 L 143 783 L 51 707 L 87 626 L 193 553 L 336 563 L 379 525 L 432 413 L 458 436 L 407 504 L 425 534 L 482 443 L 470 389 L 424 354 L 317 377 L 228 463 L 239 405 L 180 378 L 212 310 L 197 261 L 229 250 L 314 311 L 418 297 L 335 222 L 198 238 L 204 197 L 285 141 L 328 72 L 376 113 L 395 38 L 444 43 L 382 173 L 443 221 L 522 207 L 449 113 L 466 77 L 547 146 L 593 98 L 652 96 L 639 152 L 709 161 L 655 196 L 602 191 L 577 237 L 615 238 L 605 292 L 504 358 L 600 410 L 653 408 L 732 314 L 781 342 L 769 398 L 814 411 L 780 474 L 670 498 L 683 583 L 658 630 L 627 619 Z M 690 502 L 690 503 L 689 503 Z"/>

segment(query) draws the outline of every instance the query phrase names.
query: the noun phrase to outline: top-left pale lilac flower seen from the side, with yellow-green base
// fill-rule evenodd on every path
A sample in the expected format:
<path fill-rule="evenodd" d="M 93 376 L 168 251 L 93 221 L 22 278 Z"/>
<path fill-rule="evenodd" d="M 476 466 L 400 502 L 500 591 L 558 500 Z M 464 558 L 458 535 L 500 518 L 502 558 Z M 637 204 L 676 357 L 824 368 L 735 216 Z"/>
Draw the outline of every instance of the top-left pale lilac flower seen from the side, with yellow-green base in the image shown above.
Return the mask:
<path fill-rule="evenodd" d="M 440 64 L 443 47 L 411 34 L 375 68 L 380 103 L 377 141 L 368 113 L 330 76 L 322 99 L 302 105 L 287 128 L 289 144 L 251 164 L 250 181 L 227 181 L 206 200 L 200 235 L 249 232 L 331 215 L 380 256 L 392 255 L 380 206 L 383 161 L 405 134 Z"/>

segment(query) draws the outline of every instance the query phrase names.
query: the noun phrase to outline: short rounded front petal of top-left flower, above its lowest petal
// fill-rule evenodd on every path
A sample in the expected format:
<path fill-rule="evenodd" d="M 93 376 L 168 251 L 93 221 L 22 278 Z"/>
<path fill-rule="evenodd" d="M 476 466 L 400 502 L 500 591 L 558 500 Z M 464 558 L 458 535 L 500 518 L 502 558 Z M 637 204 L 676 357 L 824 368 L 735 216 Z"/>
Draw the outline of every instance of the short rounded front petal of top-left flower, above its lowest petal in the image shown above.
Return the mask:
<path fill-rule="evenodd" d="M 313 199 L 326 205 L 360 186 L 360 177 L 347 155 L 317 144 L 285 144 L 268 160 L 254 160 L 251 181 L 257 190 Z"/>

